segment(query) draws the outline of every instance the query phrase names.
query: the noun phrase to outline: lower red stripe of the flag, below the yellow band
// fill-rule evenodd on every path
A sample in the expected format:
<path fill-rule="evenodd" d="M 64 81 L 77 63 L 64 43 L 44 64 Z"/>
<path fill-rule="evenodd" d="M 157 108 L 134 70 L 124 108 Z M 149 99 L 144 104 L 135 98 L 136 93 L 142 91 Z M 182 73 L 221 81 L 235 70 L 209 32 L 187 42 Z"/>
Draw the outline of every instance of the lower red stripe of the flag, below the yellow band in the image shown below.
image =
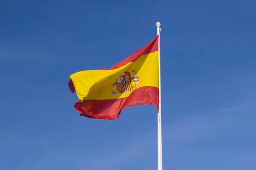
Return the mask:
<path fill-rule="evenodd" d="M 91 119 L 116 120 L 124 108 L 134 105 L 155 105 L 158 108 L 158 102 L 158 88 L 148 86 L 137 88 L 126 98 L 78 101 L 75 109 L 80 116 Z"/>

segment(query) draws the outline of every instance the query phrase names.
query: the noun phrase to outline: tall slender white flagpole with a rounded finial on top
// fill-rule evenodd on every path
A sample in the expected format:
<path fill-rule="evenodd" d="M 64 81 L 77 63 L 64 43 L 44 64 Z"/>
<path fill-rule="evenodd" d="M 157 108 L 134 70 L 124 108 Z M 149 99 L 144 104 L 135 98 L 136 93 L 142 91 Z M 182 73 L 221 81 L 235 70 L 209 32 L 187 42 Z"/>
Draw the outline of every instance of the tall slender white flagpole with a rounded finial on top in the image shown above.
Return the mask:
<path fill-rule="evenodd" d="M 160 31 L 161 31 L 161 24 L 159 22 L 156 23 L 157 26 L 157 35 L 158 37 L 158 77 L 159 77 L 159 110 L 157 114 L 157 152 L 158 152 L 158 168 L 157 170 L 162 170 L 162 108 L 161 108 L 161 65 L 160 65 Z"/>

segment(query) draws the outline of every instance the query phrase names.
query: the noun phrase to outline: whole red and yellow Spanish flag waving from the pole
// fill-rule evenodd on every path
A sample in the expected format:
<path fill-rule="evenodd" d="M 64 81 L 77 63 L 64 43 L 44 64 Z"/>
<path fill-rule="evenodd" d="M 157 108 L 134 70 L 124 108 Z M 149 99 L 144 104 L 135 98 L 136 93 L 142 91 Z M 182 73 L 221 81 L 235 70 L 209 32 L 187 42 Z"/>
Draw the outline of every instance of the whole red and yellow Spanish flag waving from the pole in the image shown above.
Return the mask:
<path fill-rule="evenodd" d="M 68 85 L 80 99 L 74 106 L 80 116 L 115 120 L 129 106 L 158 108 L 158 37 L 110 69 L 70 75 Z"/>

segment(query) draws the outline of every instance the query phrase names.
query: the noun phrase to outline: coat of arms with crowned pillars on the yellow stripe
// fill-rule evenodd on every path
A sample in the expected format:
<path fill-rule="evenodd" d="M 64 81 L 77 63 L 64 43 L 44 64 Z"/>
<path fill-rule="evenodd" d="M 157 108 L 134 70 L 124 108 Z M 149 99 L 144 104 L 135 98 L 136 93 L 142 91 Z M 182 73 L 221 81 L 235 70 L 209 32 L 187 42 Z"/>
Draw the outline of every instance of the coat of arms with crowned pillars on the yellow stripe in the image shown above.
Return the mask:
<path fill-rule="evenodd" d="M 136 88 L 139 80 L 135 70 L 132 70 L 132 76 L 133 77 L 131 77 L 131 72 L 124 72 L 118 79 L 116 79 L 115 83 L 113 84 L 113 90 L 111 94 L 116 94 L 116 90 L 119 93 L 130 92 L 133 89 L 132 82 L 135 82 Z"/>

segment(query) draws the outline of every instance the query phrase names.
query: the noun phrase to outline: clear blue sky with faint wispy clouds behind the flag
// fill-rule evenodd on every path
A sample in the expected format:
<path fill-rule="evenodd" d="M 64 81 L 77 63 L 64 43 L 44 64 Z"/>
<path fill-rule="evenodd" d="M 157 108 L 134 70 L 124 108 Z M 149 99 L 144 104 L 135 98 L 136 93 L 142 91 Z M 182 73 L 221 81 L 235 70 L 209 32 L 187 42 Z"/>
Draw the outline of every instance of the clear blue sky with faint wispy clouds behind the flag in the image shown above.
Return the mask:
<path fill-rule="evenodd" d="M 2 0 L 0 169 L 156 170 L 154 106 L 80 117 L 67 83 L 142 48 L 160 21 L 163 170 L 255 170 L 255 6 Z"/>

